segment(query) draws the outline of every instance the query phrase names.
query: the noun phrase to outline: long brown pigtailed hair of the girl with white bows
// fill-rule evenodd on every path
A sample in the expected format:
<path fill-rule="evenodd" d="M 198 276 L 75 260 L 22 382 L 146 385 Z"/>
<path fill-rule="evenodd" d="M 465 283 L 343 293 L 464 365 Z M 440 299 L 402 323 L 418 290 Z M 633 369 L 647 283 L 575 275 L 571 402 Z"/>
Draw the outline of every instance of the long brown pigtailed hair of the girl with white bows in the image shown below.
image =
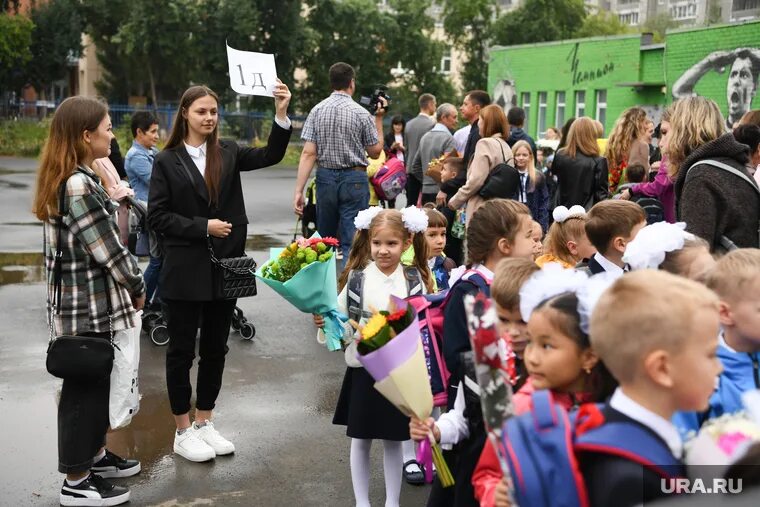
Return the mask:
<path fill-rule="evenodd" d="M 427 264 L 428 248 L 425 234 L 422 232 L 412 234 L 406 230 L 401 212 L 395 209 L 381 211 L 372 219 L 369 229 L 359 229 L 356 231 L 354 242 L 351 246 L 351 253 L 346 262 L 346 267 L 338 280 L 338 290 L 343 290 L 343 287 L 346 286 L 348 283 L 348 274 L 351 271 L 362 270 L 370 263 L 372 260 L 372 236 L 374 232 L 381 227 L 388 227 L 398 232 L 404 241 L 407 241 L 410 237 L 412 238 L 412 246 L 414 247 L 414 267 L 420 272 L 420 276 L 425 283 L 425 289 L 427 292 L 432 293 L 433 275 L 430 273 L 430 268 Z"/>

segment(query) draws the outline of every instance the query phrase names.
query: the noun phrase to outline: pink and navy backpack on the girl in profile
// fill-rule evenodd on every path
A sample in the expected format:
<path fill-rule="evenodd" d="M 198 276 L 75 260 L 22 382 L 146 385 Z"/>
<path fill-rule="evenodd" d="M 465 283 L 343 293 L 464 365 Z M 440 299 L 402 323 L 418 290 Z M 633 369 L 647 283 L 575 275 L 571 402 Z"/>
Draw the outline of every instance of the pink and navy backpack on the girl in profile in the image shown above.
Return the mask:
<path fill-rule="evenodd" d="M 473 276 L 478 275 L 478 276 Z M 475 270 L 469 270 L 462 275 L 457 283 L 471 283 L 485 290 L 488 282 L 479 276 Z M 420 336 L 425 351 L 425 363 L 430 376 L 430 387 L 433 391 L 433 405 L 445 407 L 448 402 L 448 385 L 451 372 L 446 367 L 443 358 L 443 313 L 449 302 L 451 290 L 443 290 L 436 294 L 411 295 L 406 300 L 417 311 L 420 324 Z"/>

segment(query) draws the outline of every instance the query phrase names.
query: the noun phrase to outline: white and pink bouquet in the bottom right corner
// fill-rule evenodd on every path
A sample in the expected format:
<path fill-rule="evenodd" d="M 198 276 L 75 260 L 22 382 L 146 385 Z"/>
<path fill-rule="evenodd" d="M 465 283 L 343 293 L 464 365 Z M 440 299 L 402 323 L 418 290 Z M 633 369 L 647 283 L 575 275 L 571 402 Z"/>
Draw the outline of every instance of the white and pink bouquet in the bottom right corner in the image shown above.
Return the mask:
<path fill-rule="evenodd" d="M 686 467 L 692 478 L 705 470 L 722 475 L 755 442 L 760 442 L 760 425 L 746 412 L 710 419 L 686 442 Z M 714 465 L 701 467 L 700 465 Z"/>

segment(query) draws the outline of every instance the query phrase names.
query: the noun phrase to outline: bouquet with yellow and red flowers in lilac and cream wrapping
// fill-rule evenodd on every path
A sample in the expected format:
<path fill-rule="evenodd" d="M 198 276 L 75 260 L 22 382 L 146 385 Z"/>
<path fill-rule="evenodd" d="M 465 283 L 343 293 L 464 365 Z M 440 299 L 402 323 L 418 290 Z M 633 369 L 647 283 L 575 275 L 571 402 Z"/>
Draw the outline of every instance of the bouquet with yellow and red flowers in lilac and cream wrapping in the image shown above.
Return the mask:
<path fill-rule="evenodd" d="M 433 412 L 425 352 L 414 308 L 401 298 L 391 296 L 388 311 L 374 312 L 363 327 L 357 326 L 357 359 L 375 379 L 375 389 L 407 417 L 425 420 Z M 423 442 L 435 462 L 444 487 L 454 484 L 440 447 Z M 425 467 L 432 481 L 432 463 Z"/>

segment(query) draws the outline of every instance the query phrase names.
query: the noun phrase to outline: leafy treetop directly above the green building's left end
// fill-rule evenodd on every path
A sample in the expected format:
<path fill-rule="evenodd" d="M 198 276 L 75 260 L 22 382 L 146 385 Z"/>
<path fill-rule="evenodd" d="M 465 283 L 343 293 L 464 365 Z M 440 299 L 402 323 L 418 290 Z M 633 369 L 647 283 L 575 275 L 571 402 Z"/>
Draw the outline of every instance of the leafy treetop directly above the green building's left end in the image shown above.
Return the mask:
<path fill-rule="evenodd" d="M 583 26 L 583 0 L 526 0 L 493 25 L 493 41 L 503 46 L 573 38 Z"/>

